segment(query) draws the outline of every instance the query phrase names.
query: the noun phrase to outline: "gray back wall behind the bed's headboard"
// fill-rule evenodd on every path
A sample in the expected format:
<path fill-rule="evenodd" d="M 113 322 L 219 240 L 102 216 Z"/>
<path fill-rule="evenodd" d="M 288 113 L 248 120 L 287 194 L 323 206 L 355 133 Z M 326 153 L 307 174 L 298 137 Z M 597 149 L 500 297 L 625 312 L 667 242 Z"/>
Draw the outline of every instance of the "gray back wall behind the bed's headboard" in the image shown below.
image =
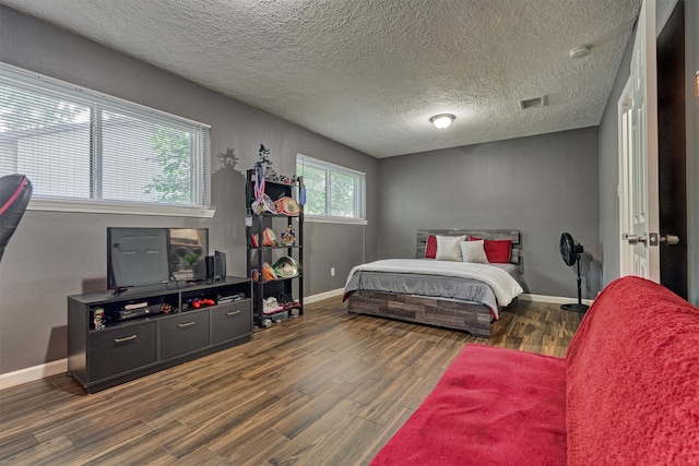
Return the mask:
<path fill-rule="evenodd" d="M 577 298 L 558 251 L 583 244 L 583 298 L 600 289 L 597 129 L 587 128 L 381 159 L 379 251 L 415 253 L 420 228 L 506 228 L 522 234 L 525 291 Z"/>

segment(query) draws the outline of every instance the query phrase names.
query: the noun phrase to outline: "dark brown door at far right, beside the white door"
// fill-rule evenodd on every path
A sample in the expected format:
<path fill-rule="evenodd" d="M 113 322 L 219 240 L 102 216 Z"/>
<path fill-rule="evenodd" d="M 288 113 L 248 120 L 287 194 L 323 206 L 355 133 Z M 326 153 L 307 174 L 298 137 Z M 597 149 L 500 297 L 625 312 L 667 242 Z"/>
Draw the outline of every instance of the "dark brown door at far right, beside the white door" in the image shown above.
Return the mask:
<path fill-rule="evenodd" d="M 660 234 L 679 243 L 660 244 L 661 284 L 687 298 L 687 154 L 685 121 L 685 4 L 678 1 L 657 37 Z"/>

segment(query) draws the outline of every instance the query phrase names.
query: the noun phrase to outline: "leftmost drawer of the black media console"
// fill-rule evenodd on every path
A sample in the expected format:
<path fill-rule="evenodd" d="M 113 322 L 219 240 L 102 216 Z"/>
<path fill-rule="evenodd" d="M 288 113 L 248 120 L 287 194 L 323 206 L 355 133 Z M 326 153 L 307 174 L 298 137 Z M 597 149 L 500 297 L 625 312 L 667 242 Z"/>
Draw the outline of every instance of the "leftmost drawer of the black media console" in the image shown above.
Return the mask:
<path fill-rule="evenodd" d="M 155 322 L 91 334 L 87 359 L 87 377 L 91 381 L 155 362 Z"/>

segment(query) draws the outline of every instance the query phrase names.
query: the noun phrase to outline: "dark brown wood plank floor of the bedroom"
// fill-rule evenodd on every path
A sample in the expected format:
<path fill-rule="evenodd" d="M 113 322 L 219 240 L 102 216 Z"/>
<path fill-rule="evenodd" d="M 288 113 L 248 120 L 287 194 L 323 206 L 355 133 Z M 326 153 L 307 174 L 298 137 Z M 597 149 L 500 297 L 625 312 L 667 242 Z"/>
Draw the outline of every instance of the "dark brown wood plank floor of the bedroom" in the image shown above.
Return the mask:
<path fill-rule="evenodd" d="M 241 346 L 93 395 L 63 374 L 0 391 L 0 464 L 364 465 L 464 344 L 562 357 L 581 318 L 516 301 L 488 340 L 329 299 Z"/>

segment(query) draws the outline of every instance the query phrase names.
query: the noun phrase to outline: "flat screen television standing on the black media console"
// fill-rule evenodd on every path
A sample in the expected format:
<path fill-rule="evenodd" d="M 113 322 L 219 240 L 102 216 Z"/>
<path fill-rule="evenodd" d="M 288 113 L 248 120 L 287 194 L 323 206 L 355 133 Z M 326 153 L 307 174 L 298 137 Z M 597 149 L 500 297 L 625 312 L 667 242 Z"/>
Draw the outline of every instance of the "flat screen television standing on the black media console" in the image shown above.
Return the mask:
<path fill-rule="evenodd" d="M 208 228 L 107 228 L 107 287 L 206 278 Z"/>

